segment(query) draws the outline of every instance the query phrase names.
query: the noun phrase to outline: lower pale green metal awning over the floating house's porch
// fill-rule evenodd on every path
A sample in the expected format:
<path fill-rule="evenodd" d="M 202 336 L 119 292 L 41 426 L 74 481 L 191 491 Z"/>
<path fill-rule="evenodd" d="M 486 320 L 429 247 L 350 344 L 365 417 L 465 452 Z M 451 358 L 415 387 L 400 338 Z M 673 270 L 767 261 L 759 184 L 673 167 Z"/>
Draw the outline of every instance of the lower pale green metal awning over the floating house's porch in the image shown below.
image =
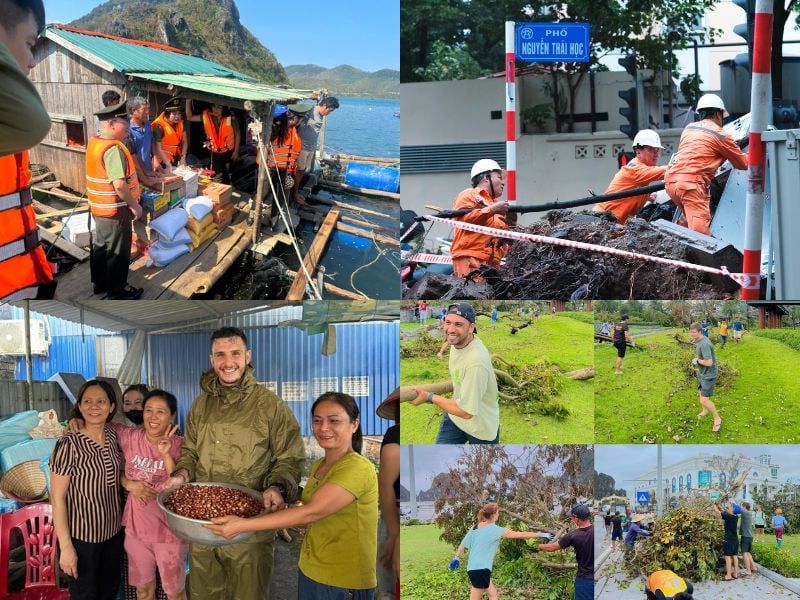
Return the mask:
<path fill-rule="evenodd" d="M 215 75 L 183 75 L 176 73 L 128 73 L 131 77 L 157 81 L 167 85 L 195 90 L 213 96 L 252 100 L 254 102 L 288 102 L 300 98 L 310 98 L 305 90 L 284 89 L 257 81 L 242 81 L 231 77 Z"/>

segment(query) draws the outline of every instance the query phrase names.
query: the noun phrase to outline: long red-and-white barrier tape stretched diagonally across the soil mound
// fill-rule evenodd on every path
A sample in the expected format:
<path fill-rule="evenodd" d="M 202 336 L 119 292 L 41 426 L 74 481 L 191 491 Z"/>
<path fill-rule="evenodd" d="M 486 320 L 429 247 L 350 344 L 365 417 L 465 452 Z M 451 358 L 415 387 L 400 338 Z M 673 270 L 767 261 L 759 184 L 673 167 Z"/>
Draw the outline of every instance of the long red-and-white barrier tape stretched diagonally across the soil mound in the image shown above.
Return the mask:
<path fill-rule="evenodd" d="M 682 260 L 674 260 L 672 258 L 661 258 L 660 256 L 650 256 L 648 254 L 639 254 L 637 252 L 628 252 L 627 250 L 618 250 L 617 248 L 609 248 L 608 246 L 598 246 L 597 244 L 588 244 L 586 242 L 576 242 L 574 240 L 562 240 L 559 238 L 548 237 L 545 235 L 536 235 L 533 233 L 523 233 L 521 231 L 508 231 L 506 229 L 495 229 L 493 227 L 485 227 L 483 225 L 476 225 L 474 223 L 464 223 L 463 221 L 455 221 L 453 219 L 442 219 L 441 217 L 434 217 L 433 215 L 426 215 L 426 219 L 438 223 L 445 223 L 456 229 L 463 229 L 465 231 L 473 231 L 475 233 L 482 233 L 493 237 L 505 238 L 508 240 L 521 240 L 525 242 L 533 242 L 534 244 L 549 244 L 551 246 L 563 246 L 565 248 L 577 248 L 579 250 L 588 250 L 589 252 L 601 252 L 603 254 L 611 254 L 614 256 L 622 256 L 630 259 L 644 260 L 647 262 L 659 263 L 662 265 L 669 265 L 672 267 L 680 267 L 692 271 L 702 271 L 712 275 L 722 275 L 730 277 L 736 283 L 742 286 L 747 286 L 750 283 L 750 276 L 744 273 L 731 273 L 727 268 L 721 267 L 715 269 L 714 267 L 705 267 L 703 265 L 695 265 L 687 263 Z"/>

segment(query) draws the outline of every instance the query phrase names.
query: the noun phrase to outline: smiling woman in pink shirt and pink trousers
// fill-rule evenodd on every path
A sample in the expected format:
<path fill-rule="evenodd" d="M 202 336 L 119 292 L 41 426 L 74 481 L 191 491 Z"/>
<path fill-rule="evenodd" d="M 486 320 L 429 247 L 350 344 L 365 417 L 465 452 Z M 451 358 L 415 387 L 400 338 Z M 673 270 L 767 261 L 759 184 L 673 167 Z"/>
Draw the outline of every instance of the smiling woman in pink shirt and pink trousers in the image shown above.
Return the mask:
<path fill-rule="evenodd" d="M 156 567 L 169 600 L 185 600 L 188 544 L 167 526 L 156 495 L 175 470 L 183 438 L 173 425 L 178 402 L 164 390 L 153 390 L 144 398 L 141 427 L 116 425 L 119 446 L 125 457 L 122 485 L 128 500 L 122 513 L 128 582 L 136 587 L 137 600 L 152 600 L 156 590 Z"/>

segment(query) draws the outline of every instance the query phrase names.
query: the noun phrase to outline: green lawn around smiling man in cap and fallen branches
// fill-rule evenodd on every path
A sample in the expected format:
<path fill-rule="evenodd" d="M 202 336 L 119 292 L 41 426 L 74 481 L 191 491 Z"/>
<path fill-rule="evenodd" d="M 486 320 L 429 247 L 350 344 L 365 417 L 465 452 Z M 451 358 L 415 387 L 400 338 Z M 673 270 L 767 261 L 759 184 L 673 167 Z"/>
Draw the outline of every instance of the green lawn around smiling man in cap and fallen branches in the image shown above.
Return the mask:
<path fill-rule="evenodd" d="M 510 334 L 500 315 L 496 328 L 487 317 L 478 317 L 478 335 L 491 353 L 517 365 L 547 359 L 564 372 L 592 364 L 592 325 L 563 315 L 539 317 L 533 325 Z M 442 340 L 444 338 L 441 338 Z M 409 343 L 401 341 L 401 345 Z M 400 360 L 401 385 L 448 381 L 447 354 Z M 594 388 L 592 380 L 563 379 L 557 399 L 570 410 L 559 421 L 554 417 L 526 414 L 515 406 L 500 406 L 500 442 L 591 444 L 594 441 Z M 441 410 L 432 405 L 400 407 L 401 442 L 432 444 L 441 421 Z"/>

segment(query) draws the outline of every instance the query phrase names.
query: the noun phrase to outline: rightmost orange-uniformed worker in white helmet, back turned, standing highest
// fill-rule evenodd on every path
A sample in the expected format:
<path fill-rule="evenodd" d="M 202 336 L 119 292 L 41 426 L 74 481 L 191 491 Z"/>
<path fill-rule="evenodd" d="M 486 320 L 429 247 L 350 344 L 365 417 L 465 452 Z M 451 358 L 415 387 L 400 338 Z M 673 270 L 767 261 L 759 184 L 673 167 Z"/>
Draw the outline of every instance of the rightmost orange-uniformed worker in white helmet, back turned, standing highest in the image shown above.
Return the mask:
<path fill-rule="evenodd" d="M 683 211 L 679 223 L 711 235 L 711 179 L 726 160 L 731 161 L 734 169 L 746 169 L 747 155 L 722 129 L 722 120 L 727 115 L 722 98 L 716 94 L 704 95 L 697 103 L 697 113 L 700 121 L 684 128 L 664 183 L 672 201 Z"/>

